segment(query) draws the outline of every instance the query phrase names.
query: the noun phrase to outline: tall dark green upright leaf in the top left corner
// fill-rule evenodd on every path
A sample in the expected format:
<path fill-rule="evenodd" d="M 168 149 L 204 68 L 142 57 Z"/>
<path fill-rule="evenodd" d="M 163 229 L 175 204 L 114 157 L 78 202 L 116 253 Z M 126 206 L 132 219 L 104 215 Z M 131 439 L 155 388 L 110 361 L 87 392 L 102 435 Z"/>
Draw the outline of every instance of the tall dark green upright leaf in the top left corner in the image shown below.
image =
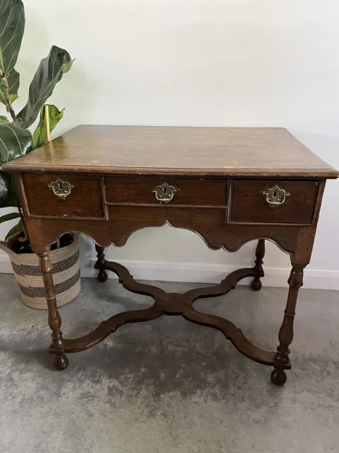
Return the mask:
<path fill-rule="evenodd" d="M 0 70 L 5 74 L 9 94 L 18 97 L 20 75 L 14 69 L 25 30 L 25 9 L 21 0 L 0 1 Z M 0 79 L 0 102 L 6 104 Z"/>

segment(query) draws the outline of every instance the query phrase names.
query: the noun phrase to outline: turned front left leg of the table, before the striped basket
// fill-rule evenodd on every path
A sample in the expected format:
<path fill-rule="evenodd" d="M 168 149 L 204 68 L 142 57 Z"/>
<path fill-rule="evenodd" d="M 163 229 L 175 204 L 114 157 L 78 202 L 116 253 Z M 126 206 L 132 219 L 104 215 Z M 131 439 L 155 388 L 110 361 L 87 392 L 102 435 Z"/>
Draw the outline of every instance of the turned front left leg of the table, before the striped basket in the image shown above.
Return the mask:
<path fill-rule="evenodd" d="M 57 306 L 52 277 L 53 266 L 48 251 L 38 253 L 37 256 L 39 257 L 40 269 L 44 280 L 44 289 L 46 290 L 48 324 L 52 329 L 52 345 L 49 348 L 49 352 L 55 354 L 54 367 L 60 371 L 69 365 L 69 360 L 64 354 L 64 339 L 62 338 L 62 332 L 60 330 L 61 317 Z"/>

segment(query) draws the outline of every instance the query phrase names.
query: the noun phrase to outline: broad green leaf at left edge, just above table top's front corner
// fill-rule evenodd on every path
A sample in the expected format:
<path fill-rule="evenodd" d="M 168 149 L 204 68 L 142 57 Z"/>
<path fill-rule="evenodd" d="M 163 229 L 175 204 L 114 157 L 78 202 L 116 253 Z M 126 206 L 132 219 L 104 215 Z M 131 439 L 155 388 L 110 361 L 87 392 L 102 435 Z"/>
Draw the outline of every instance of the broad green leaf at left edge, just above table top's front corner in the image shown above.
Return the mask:
<path fill-rule="evenodd" d="M 28 153 L 32 146 L 32 134 L 20 122 L 0 124 L 0 165 Z"/>

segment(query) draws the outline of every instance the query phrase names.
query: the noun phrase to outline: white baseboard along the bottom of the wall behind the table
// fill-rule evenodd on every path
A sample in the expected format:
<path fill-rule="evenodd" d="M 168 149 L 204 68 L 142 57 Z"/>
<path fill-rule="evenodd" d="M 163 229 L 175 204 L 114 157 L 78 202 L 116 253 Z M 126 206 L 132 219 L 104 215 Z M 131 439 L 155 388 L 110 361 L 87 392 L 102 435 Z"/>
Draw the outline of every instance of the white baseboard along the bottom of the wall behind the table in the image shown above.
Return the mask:
<path fill-rule="evenodd" d="M 157 280 L 162 282 L 219 283 L 225 275 L 246 266 L 213 265 L 204 263 L 162 263 L 153 261 L 119 261 L 129 269 L 136 280 Z M 81 265 L 82 277 L 96 277 L 95 259 L 85 260 Z M 263 285 L 268 287 L 287 287 L 289 268 L 264 268 Z M 0 273 L 13 273 L 8 256 L 0 255 Z M 115 278 L 109 272 L 110 278 Z M 239 282 L 248 285 L 249 279 Z M 306 269 L 304 288 L 339 290 L 339 270 Z"/>

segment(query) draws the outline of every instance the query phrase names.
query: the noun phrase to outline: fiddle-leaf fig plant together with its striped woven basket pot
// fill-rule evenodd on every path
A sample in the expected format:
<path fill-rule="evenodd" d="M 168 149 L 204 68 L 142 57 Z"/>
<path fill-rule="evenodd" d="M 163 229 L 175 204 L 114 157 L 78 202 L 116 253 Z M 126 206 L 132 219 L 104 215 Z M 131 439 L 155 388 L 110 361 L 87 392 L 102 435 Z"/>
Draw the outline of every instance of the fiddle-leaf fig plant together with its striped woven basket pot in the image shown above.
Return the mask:
<path fill-rule="evenodd" d="M 25 107 L 16 113 L 13 103 L 18 98 L 20 74 L 15 69 L 25 28 L 25 9 L 21 0 L 2 0 L 0 5 L 0 102 L 7 115 L 0 116 L 0 166 L 16 159 L 49 141 L 49 134 L 64 115 L 55 105 L 45 105 L 54 87 L 68 72 L 73 60 L 66 50 L 52 46 L 33 76 Z M 30 132 L 37 117 L 40 121 Z M 16 279 L 25 304 L 47 309 L 44 285 L 38 258 L 32 253 L 20 209 L 16 185 L 11 174 L 0 171 L 0 207 L 15 207 L 0 217 L 0 223 L 18 219 L 8 231 L 6 242 L 0 243 L 11 258 Z M 64 235 L 52 244 L 54 282 L 58 305 L 69 302 L 80 292 L 80 263 L 77 236 Z"/>

